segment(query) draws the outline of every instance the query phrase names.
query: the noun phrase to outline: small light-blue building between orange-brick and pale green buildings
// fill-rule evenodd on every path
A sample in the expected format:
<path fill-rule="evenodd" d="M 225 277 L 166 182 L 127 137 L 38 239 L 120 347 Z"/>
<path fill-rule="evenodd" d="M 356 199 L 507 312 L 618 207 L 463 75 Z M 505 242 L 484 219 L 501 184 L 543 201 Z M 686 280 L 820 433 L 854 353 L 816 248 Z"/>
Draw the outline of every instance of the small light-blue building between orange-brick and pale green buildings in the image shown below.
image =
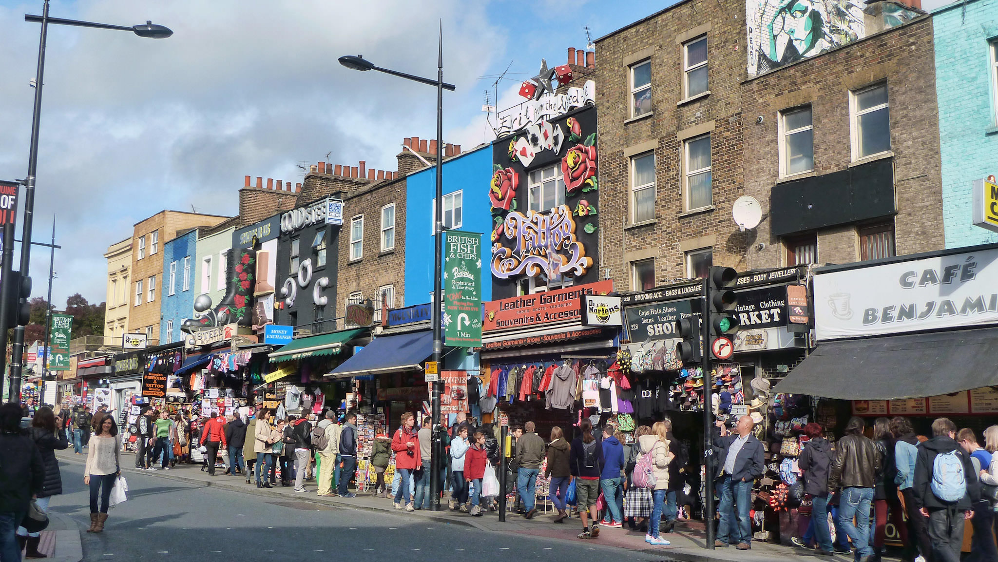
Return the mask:
<path fill-rule="evenodd" d="M 160 304 L 160 342 L 183 339 L 181 324 L 194 313 L 194 299 L 199 294 L 195 283 L 195 257 L 198 229 L 181 231 L 163 245 L 163 288 Z"/>

